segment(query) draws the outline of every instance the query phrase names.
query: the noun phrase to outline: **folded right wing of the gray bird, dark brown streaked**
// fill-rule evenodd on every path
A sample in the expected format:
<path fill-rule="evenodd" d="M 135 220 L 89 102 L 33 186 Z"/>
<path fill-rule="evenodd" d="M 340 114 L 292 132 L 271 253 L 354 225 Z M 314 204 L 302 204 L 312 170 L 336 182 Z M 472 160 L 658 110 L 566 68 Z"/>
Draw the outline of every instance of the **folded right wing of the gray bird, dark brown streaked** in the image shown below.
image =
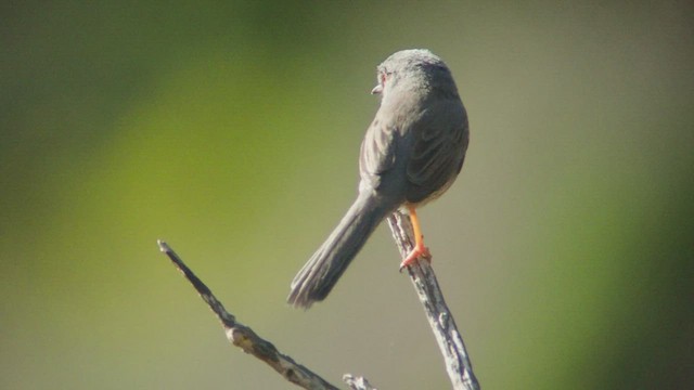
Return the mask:
<path fill-rule="evenodd" d="M 407 200 L 420 203 L 445 191 L 460 172 L 470 136 L 467 116 L 459 100 L 441 100 L 411 126 Z"/>

